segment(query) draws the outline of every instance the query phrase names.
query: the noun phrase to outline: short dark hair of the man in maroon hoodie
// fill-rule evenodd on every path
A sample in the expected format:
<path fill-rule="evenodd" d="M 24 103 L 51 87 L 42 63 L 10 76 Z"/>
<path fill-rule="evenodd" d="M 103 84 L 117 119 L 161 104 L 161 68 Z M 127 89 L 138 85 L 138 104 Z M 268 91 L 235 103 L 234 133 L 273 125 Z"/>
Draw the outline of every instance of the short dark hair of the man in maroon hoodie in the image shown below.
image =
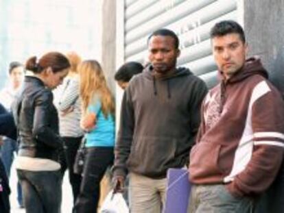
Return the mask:
<path fill-rule="evenodd" d="M 231 20 L 216 23 L 211 29 L 210 38 L 212 39 L 218 36 L 225 36 L 227 34 L 239 34 L 241 41 L 246 43 L 244 29 L 237 22 Z"/>

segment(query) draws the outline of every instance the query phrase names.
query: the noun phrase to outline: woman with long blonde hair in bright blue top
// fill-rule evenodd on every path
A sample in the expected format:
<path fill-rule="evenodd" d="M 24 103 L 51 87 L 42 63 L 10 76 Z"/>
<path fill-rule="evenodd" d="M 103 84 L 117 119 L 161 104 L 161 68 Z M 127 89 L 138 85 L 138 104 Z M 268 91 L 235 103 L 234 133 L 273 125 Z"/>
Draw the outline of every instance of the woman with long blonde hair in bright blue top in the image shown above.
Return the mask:
<path fill-rule="evenodd" d="M 74 212 L 93 213 L 97 212 L 99 183 L 106 168 L 113 164 L 115 102 L 97 61 L 82 62 L 78 71 L 82 99 L 80 125 L 86 131 L 86 162 Z"/>

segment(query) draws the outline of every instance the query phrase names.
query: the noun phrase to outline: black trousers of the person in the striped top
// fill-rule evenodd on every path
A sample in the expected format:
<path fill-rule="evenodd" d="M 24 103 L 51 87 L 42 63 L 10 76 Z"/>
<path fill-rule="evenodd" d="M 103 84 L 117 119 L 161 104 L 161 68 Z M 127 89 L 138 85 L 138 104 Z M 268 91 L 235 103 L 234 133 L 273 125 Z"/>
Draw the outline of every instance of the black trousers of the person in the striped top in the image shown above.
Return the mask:
<path fill-rule="evenodd" d="M 71 184 L 73 192 L 73 203 L 75 203 L 80 192 L 82 176 L 74 173 L 73 165 L 75 162 L 75 156 L 80 146 L 82 137 L 80 138 L 62 137 L 62 139 L 64 142 L 64 153 L 61 153 L 60 155 L 60 165 L 61 165 L 60 171 L 63 177 L 65 171 L 68 168 L 69 182 Z"/>

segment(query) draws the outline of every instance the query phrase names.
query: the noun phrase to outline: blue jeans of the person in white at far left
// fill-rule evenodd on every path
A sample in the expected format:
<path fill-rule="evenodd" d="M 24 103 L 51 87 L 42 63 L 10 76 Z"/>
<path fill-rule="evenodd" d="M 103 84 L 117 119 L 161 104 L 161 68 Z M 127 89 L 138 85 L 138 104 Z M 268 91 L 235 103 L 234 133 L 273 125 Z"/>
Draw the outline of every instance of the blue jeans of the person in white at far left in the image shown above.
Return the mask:
<path fill-rule="evenodd" d="M 16 140 L 10 138 L 5 138 L 3 140 L 3 145 L 1 146 L 1 159 L 5 166 L 5 171 L 7 176 L 10 177 L 11 166 L 14 161 L 14 152 L 18 153 L 18 144 Z M 23 195 L 21 184 L 18 182 L 17 186 L 17 200 L 20 206 L 23 206 Z"/>

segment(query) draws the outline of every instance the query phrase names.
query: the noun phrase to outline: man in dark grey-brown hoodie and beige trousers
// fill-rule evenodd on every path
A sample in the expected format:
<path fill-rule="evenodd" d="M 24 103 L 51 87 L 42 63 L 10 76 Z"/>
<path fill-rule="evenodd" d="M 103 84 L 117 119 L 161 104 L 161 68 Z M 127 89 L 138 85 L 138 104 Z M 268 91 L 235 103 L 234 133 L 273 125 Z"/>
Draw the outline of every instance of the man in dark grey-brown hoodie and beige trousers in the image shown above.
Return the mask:
<path fill-rule="evenodd" d="M 158 29 L 148 40 L 150 65 L 123 95 L 113 167 L 115 192 L 130 172 L 130 211 L 161 212 L 168 168 L 183 168 L 200 123 L 206 84 L 177 68 L 178 36 Z"/>

